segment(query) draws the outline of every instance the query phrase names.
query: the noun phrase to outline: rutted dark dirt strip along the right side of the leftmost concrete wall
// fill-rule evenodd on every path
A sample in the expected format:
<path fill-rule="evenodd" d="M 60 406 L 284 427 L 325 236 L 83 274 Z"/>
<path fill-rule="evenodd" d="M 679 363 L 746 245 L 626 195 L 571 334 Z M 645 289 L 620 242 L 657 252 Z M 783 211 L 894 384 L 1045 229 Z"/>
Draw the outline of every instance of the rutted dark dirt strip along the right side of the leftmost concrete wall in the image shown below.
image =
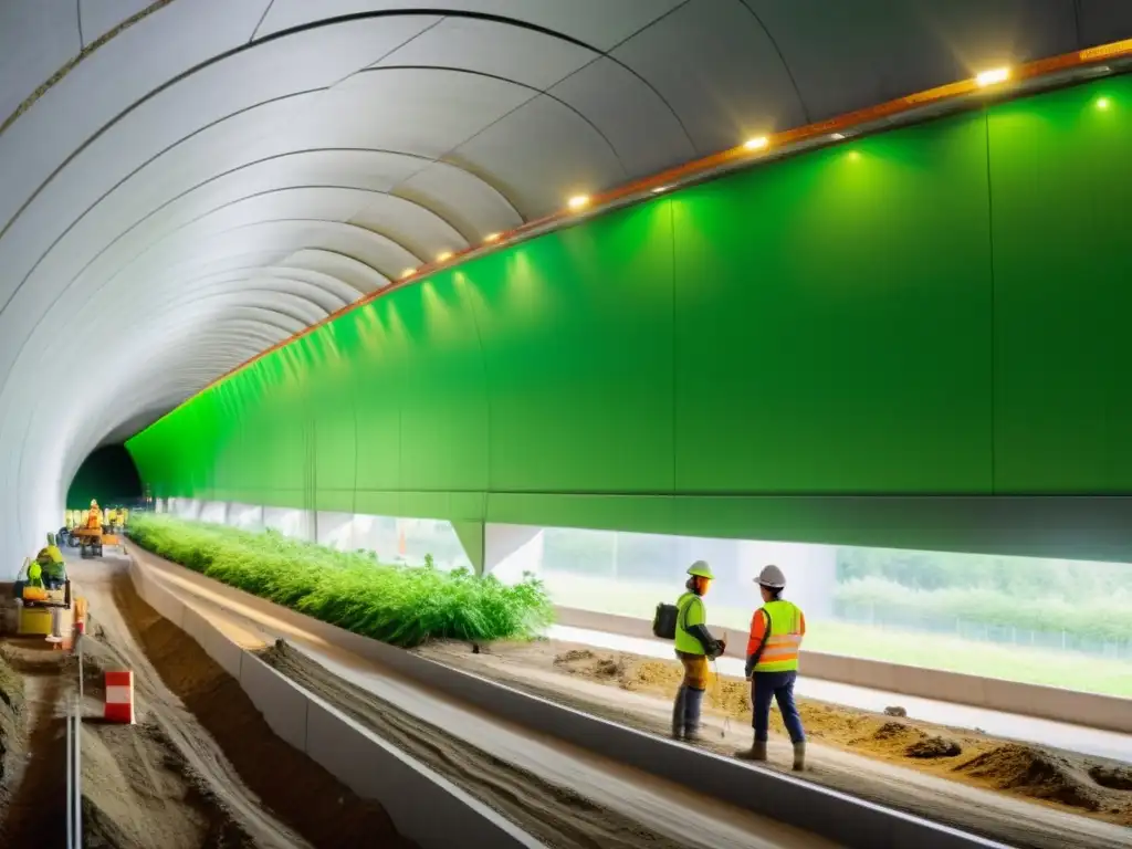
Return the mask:
<path fill-rule="evenodd" d="M 277 642 L 259 657 L 379 737 L 557 849 L 679 849 L 683 844 L 521 770 L 344 681 Z"/>

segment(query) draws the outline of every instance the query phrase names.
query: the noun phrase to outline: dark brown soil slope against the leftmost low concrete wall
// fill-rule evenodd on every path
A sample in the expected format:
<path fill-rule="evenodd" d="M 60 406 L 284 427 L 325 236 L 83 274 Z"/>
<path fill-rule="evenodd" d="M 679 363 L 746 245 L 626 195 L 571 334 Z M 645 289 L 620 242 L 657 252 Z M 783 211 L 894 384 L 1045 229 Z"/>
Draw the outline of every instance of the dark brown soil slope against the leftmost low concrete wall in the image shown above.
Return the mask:
<path fill-rule="evenodd" d="M 212 735 L 242 783 L 281 822 L 314 847 L 411 849 L 413 844 L 396 833 L 379 805 L 359 798 L 277 737 L 239 683 L 146 604 L 128 580 L 115 583 L 114 600 L 165 686 Z"/>

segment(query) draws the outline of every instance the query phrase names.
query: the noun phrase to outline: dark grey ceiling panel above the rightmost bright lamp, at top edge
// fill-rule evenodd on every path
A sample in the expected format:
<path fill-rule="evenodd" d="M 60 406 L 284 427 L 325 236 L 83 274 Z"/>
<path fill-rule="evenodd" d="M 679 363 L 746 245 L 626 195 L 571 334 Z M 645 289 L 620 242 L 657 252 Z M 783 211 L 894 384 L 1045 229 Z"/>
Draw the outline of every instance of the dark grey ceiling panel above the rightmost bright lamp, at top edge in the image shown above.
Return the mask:
<path fill-rule="evenodd" d="M 744 2 L 773 36 L 813 120 L 1077 48 L 1072 0 Z"/>

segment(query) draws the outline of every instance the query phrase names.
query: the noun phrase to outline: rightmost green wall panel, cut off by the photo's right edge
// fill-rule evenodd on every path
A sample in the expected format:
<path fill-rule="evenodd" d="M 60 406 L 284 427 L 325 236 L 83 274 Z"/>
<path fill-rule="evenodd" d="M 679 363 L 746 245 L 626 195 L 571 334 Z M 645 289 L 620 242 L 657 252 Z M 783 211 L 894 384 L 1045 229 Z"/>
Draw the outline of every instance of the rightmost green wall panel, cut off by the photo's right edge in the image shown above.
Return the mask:
<path fill-rule="evenodd" d="M 1132 80 L 1005 104 L 989 126 L 996 486 L 1126 492 Z"/>

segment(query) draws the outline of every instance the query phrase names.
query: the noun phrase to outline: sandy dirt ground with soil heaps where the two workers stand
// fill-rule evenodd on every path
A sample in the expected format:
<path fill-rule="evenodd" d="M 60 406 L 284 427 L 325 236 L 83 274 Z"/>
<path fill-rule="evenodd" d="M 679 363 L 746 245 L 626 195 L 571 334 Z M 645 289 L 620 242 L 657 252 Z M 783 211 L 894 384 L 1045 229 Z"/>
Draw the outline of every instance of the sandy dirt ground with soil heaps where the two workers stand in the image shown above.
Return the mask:
<path fill-rule="evenodd" d="M 475 653 L 462 643 L 419 651 L 658 734 L 667 731 L 680 679 L 675 659 L 554 641 L 479 646 Z M 741 679 L 713 679 L 701 745 L 721 754 L 749 746 L 747 694 Z M 1132 847 L 1127 764 L 811 700 L 799 700 L 799 710 L 811 740 L 809 780 L 1015 846 Z M 772 728 L 781 738 L 777 710 Z M 786 744 L 772 744 L 771 755 L 788 766 Z"/>

